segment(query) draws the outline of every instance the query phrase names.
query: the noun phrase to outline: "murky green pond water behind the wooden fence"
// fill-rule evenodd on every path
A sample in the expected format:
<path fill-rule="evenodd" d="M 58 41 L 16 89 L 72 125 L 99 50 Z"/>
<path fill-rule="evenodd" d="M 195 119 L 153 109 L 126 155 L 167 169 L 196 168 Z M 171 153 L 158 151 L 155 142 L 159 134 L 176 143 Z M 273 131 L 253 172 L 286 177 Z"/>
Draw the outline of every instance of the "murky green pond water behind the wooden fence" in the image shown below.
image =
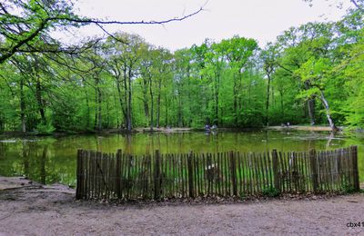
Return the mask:
<path fill-rule="evenodd" d="M 26 176 L 43 183 L 76 185 L 77 149 L 145 154 L 154 152 L 267 152 L 331 150 L 359 146 L 359 175 L 364 182 L 364 134 L 329 132 L 134 133 L 14 138 L 0 136 L 0 175 Z"/>

